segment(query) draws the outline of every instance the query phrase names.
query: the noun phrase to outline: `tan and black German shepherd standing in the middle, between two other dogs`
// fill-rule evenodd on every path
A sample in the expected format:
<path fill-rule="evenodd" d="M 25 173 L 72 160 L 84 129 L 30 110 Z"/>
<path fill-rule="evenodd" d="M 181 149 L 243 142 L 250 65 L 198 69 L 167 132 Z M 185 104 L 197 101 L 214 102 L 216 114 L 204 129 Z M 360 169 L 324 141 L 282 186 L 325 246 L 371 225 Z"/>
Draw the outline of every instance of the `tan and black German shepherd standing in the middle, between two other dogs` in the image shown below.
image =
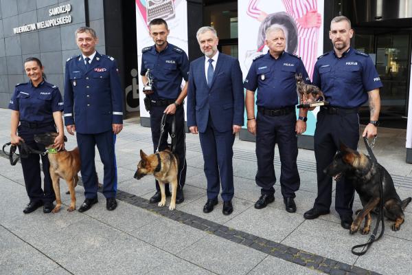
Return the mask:
<path fill-rule="evenodd" d="M 177 190 L 177 167 L 176 156 L 168 149 L 152 155 L 146 155 L 140 150 L 140 162 L 137 164 L 135 179 L 141 179 L 146 175 L 154 175 L 159 181 L 161 201 L 158 206 L 166 205 L 165 184 L 172 184 L 172 199 L 170 200 L 169 210 L 176 208 Z"/>

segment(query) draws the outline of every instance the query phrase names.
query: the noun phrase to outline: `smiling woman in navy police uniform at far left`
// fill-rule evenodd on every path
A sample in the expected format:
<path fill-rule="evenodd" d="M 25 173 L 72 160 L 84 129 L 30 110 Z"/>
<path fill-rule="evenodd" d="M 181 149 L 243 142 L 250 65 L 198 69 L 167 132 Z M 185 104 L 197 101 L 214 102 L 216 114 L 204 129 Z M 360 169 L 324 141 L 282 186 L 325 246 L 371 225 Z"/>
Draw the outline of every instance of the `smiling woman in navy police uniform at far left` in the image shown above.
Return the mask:
<path fill-rule="evenodd" d="M 43 75 L 43 65 L 38 58 L 30 57 L 24 63 L 25 73 L 30 79 L 28 83 L 16 85 L 9 109 L 12 109 L 11 143 L 25 142 L 31 148 L 45 151 L 45 146 L 34 142 L 34 135 L 54 132 L 58 128 L 58 136 L 54 140 L 54 148 L 64 148 L 64 128 L 62 120 L 63 100 L 58 87 L 47 83 Z M 16 133 L 19 132 L 19 135 Z M 49 173 L 49 158 L 41 155 L 43 164 L 44 190 L 41 188 L 41 172 L 39 155 L 30 153 L 21 157 L 21 167 L 27 195 L 30 203 L 23 210 L 25 214 L 43 206 L 43 212 L 52 212 L 54 196 L 52 179 Z"/>

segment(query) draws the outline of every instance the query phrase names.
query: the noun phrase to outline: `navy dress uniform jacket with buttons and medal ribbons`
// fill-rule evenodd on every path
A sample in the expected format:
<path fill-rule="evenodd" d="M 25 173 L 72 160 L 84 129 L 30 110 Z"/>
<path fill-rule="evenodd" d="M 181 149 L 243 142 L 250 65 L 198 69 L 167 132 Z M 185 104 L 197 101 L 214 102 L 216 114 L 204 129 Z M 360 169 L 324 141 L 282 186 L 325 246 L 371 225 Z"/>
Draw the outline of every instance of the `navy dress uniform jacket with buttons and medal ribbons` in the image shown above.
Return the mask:
<path fill-rule="evenodd" d="M 65 124 L 76 124 L 78 133 L 103 133 L 122 124 L 123 95 L 113 57 L 96 52 L 89 69 L 81 54 L 67 59 Z"/>

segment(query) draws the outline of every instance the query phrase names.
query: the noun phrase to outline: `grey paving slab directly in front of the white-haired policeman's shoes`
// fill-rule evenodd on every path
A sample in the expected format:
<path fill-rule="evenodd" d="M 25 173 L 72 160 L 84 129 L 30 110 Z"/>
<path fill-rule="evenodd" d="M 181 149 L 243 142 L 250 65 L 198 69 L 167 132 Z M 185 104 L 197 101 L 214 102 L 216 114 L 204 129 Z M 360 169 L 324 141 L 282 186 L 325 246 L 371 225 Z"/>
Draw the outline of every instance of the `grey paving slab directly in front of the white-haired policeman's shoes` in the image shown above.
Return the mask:
<path fill-rule="evenodd" d="M 251 207 L 225 225 L 279 243 L 303 221 L 301 214 L 290 214 L 277 208 L 258 210 Z"/>

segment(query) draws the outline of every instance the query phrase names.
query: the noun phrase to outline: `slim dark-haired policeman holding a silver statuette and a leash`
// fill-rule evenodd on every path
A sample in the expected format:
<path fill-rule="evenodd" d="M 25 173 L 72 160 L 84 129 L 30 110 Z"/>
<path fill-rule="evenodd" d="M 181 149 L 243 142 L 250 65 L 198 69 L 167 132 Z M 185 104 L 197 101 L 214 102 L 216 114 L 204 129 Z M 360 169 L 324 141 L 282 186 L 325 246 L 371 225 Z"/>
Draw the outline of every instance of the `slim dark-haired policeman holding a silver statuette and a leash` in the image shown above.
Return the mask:
<path fill-rule="evenodd" d="M 149 23 L 150 36 L 155 45 L 145 47 L 141 56 L 141 80 L 146 85 L 149 78 L 152 79 L 152 91 L 145 94 L 150 98 L 150 128 L 152 130 L 153 148 L 156 151 L 161 131 L 161 118 L 163 113 L 168 113 L 166 118 L 165 133 L 172 133 L 172 115 L 175 115 L 176 151 L 179 156 L 178 187 L 176 203 L 182 203 L 183 186 L 186 181 L 186 157 L 185 157 L 185 112 L 183 100 L 187 95 L 187 78 L 189 73 L 189 60 L 187 54 L 181 48 L 168 43 L 168 23 L 163 19 L 153 19 Z M 186 81 L 181 89 L 182 78 Z M 159 151 L 168 146 L 168 135 L 164 134 Z M 156 181 L 157 192 L 150 198 L 150 203 L 157 203 L 161 199 L 159 183 Z M 166 196 L 170 196 L 169 184 L 165 185 Z"/>

